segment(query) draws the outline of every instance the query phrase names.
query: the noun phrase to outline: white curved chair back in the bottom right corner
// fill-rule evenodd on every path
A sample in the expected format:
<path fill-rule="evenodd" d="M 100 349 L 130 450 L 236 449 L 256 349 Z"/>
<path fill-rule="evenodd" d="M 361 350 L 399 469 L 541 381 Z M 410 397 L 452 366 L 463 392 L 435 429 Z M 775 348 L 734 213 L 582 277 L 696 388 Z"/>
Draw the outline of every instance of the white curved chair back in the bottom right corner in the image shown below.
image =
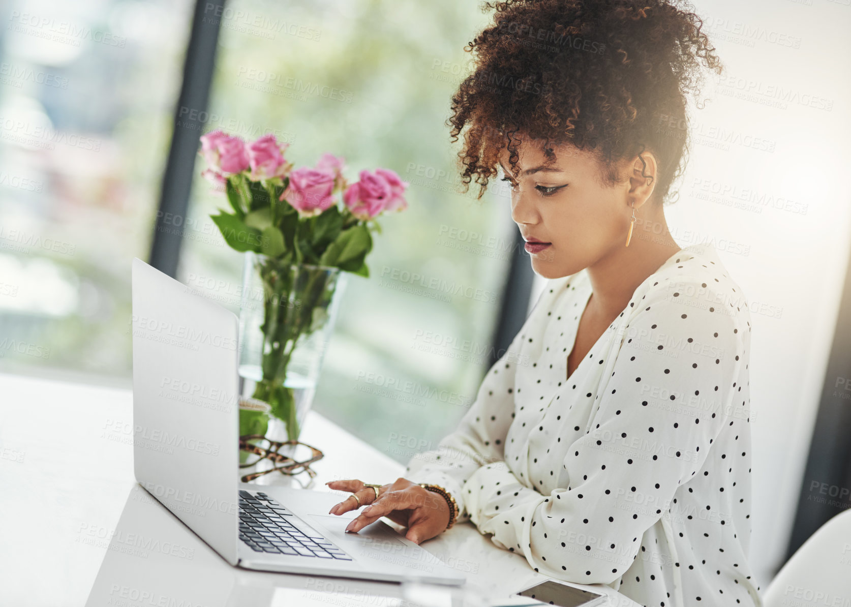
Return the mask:
<path fill-rule="evenodd" d="M 786 561 L 762 596 L 763 607 L 851 602 L 851 511 L 837 514 Z"/>

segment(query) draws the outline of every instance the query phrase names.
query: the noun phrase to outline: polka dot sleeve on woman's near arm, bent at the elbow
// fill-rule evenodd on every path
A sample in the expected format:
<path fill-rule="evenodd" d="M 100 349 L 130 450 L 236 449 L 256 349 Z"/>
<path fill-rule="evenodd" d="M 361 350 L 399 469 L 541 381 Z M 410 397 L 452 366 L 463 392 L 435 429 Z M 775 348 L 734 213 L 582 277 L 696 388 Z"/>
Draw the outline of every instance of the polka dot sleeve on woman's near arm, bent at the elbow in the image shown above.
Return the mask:
<path fill-rule="evenodd" d="M 608 584 L 623 575 L 644 531 L 703 466 L 730 407 L 742 406 L 731 402 L 745 328 L 722 305 L 688 306 L 675 295 L 651 291 L 626 324 L 597 413 L 553 462 L 568 472 L 567 489 L 542 495 L 505 461 L 467 478 L 478 530 L 546 576 Z"/>

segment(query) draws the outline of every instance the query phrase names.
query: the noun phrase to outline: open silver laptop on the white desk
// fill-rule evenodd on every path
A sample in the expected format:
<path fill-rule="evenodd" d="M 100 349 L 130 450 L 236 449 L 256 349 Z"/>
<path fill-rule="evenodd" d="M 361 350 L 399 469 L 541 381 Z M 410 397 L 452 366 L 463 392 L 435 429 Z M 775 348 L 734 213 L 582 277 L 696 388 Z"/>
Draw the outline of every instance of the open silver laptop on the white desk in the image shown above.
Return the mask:
<path fill-rule="evenodd" d="M 460 586 L 466 577 L 378 520 L 328 514 L 340 495 L 239 482 L 238 318 L 133 260 L 134 473 L 229 564 Z"/>

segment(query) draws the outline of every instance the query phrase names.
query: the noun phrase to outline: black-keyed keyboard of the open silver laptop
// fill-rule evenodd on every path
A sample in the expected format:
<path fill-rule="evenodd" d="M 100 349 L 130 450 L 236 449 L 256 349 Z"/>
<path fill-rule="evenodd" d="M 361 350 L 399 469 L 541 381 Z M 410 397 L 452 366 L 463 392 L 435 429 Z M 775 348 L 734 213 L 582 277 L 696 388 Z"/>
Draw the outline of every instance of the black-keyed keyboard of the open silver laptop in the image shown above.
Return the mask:
<path fill-rule="evenodd" d="M 265 493 L 240 490 L 239 539 L 255 553 L 352 560 Z"/>

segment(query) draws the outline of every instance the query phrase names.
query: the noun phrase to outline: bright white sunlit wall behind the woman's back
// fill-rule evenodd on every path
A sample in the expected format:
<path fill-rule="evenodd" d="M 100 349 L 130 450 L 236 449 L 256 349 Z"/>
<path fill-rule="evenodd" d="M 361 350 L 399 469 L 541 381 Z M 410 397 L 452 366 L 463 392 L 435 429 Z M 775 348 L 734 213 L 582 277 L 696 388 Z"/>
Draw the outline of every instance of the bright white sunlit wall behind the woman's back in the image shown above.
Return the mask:
<path fill-rule="evenodd" d="M 809 480 L 851 246 L 851 0 L 694 4 L 727 74 L 707 79 L 711 100 L 693 111 L 666 217 L 680 246 L 713 241 L 751 308 L 751 562 L 764 590 Z M 530 306 L 542 287 L 536 276 Z"/>

